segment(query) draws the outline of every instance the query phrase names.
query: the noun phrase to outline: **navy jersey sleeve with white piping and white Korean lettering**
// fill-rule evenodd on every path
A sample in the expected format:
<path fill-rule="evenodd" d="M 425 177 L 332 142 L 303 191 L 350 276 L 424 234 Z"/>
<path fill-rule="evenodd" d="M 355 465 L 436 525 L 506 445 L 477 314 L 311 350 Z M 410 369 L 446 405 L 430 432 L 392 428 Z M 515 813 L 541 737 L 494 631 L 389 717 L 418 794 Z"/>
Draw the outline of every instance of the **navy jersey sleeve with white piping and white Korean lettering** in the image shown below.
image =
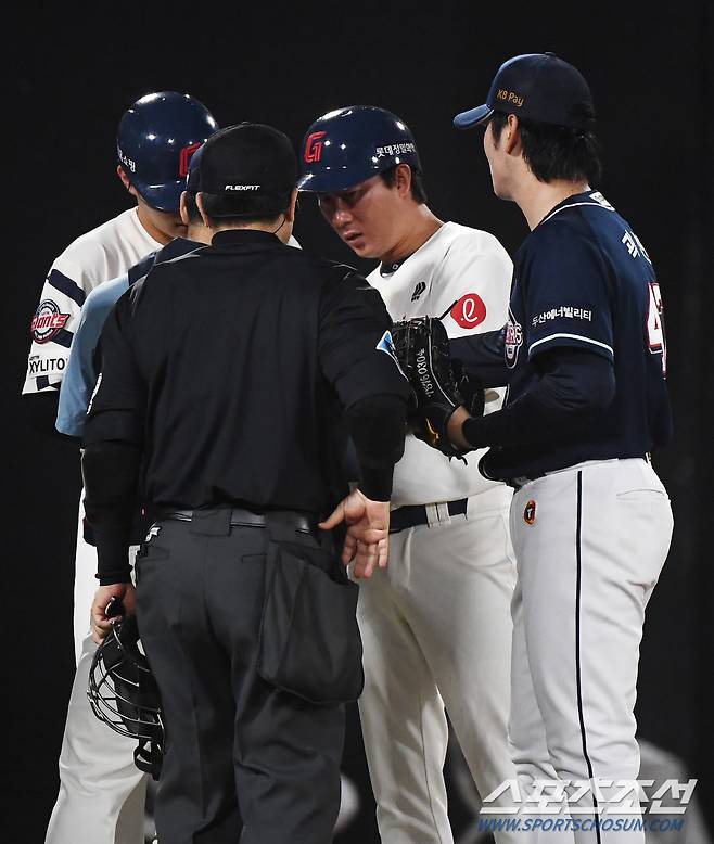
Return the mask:
<path fill-rule="evenodd" d="M 528 358 L 559 346 L 614 358 L 609 269 L 597 243 L 557 223 L 538 232 L 522 279 Z"/>

